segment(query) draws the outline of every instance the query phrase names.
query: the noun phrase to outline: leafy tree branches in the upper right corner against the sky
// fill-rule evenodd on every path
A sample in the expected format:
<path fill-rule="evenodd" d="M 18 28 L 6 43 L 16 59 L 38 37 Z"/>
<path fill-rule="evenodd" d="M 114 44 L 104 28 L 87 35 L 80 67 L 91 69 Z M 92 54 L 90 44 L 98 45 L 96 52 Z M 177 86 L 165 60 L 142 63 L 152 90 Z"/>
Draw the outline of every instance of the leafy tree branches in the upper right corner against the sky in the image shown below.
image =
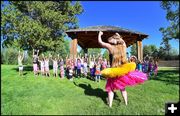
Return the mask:
<path fill-rule="evenodd" d="M 159 30 L 163 34 L 162 44 L 166 44 L 171 39 L 179 40 L 179 1 L 162 1 L 161 7 L 166 10 L 166 19 L 170 25 Z"/>

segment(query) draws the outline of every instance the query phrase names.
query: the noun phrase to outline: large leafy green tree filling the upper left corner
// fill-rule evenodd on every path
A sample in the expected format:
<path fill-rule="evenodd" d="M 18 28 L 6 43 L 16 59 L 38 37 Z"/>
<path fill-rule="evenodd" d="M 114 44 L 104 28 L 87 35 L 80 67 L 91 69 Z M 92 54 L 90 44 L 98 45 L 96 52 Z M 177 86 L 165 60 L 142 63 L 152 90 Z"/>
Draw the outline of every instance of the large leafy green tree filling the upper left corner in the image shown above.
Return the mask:
<path fill-rule="evenodd" d="M 79 2 L 9 1 L 2 8 L 3 45 L 20 49 L 65 51 L 65 31 L 77 28 L 77 15 L 83 12 Z"/>

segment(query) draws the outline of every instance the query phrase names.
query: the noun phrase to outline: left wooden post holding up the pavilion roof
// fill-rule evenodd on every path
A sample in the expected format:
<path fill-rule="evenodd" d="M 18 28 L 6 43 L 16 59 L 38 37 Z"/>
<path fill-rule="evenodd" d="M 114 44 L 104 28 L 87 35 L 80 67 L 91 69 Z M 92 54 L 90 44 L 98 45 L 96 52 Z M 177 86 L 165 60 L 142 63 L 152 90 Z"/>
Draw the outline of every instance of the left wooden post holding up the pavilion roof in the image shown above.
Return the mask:
<path fill-rule="evenodd" d="M 75 59 L 77 56 L 77 39 L 73 39 L 71 41 L 71 47 L 70 47 L 70 58 Z"/>

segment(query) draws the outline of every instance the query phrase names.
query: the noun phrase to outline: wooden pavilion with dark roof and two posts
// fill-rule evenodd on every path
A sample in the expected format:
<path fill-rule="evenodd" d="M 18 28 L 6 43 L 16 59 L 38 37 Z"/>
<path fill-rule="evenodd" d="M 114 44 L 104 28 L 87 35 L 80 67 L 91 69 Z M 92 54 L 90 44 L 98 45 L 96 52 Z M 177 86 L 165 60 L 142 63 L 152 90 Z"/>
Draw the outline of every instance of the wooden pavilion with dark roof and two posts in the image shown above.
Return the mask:
<path fill-rule="evenodd" d="M 87 53 L 88 48 L 101 48 L 101 46 L 98 44 L 99 31 L 103 32 L 102 40 L 104 42 L 107 42 L 107 39 L 110 36 L 114 35 L 115 33 L 119 33 L 121 36 L 123 36 L 127 47 L 136 43 L 138 53 L 137 58 L 139 60 L 143 59 L 142 40 L 147 38 L 148 35 L 115 26 L 92 26 L 87 28 L 70 29 L 66 31 L 67 35 L 72 39 L 70 56 L 72 58 L 77 56 L 77 44 L 85 51 L 85 53 Z"/>

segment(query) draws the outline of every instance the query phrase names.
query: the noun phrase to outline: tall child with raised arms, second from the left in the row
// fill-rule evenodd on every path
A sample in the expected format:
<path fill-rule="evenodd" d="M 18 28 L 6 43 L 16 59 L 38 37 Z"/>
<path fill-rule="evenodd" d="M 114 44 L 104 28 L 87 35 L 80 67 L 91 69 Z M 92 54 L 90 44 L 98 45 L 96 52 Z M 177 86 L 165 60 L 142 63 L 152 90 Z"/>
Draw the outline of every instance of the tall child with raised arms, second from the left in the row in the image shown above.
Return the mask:
<path fill-rule="evenodd" d="M 33 49 L 33 71 L 34 71 L 34 75 L 38 74 L 38 53 L 39 50 L 34 50 Z"/>

